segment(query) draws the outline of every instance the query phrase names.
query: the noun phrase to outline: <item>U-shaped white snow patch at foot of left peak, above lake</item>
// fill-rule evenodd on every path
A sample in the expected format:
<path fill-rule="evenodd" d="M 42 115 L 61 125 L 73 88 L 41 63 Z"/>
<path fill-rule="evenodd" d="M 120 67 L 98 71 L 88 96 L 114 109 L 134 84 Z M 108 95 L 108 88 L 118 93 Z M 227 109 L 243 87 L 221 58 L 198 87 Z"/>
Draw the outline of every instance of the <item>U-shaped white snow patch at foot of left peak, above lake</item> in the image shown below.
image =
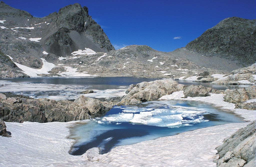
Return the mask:
<path fill-rule="evenodd" d="M 50 71 L 55 65 L 52 63 L 47 62 L 44 58 L 41 58 L 43 65 L 41 69 L 34 69 L 17 62 L 14 62 L 20 69 L 24 71 L 25 74 L 29 75 L 30 77 L 37 77 L 37 74 L 49 74 Z"/>

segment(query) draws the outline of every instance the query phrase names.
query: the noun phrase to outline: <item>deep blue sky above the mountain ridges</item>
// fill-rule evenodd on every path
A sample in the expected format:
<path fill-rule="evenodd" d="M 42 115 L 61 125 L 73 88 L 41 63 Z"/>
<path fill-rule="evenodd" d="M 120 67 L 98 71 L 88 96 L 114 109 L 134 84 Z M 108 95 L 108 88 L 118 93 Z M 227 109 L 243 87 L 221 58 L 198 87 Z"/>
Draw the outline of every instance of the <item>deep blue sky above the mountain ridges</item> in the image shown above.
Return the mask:
<path fill-rule="evenodd" d="M 36 17 L 79 3 L 101 25 L 116 49 L 148 45 L 160 51 L 184 47 L 227 17 L 256 18 L 255 0 L 3 0 Z M 179 39 L 174 39 L 177 37 Z"/>

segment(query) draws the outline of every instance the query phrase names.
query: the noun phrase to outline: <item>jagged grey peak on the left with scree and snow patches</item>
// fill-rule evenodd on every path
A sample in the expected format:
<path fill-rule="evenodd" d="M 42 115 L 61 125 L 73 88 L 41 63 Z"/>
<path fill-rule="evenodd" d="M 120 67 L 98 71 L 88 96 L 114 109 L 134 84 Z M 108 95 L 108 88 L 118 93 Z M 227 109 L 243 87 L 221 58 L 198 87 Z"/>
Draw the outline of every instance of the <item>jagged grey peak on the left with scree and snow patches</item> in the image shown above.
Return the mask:
<path fill-rule="evenodd" d="M 13 61 L 40 69 L 41 58 L 69 56 L 79 49 L 97 52 L 114 50 L 108 37 L 91 16 L 88 8 L 68 5 L 43 18 L 0 2 L 0 47 Z"/>

